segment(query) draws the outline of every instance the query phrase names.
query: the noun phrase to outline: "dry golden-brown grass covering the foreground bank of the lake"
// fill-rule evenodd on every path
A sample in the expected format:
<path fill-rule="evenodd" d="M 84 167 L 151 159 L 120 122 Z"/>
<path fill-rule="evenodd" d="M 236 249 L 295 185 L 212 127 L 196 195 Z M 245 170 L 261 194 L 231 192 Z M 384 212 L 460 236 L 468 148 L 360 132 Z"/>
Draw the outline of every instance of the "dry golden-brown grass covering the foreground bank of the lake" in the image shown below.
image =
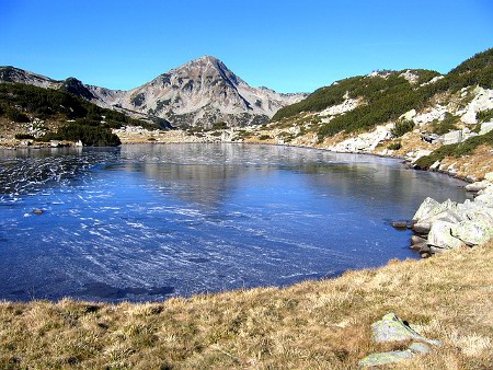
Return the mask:
<path fill-rule="evenodd" d="M 351 369 L 393 311 L 444 346 L 401 369 L 493 363 L 493 243 L 426 261 L 262 288 L 118 305 L 0 303 L 1 369 Z"/>

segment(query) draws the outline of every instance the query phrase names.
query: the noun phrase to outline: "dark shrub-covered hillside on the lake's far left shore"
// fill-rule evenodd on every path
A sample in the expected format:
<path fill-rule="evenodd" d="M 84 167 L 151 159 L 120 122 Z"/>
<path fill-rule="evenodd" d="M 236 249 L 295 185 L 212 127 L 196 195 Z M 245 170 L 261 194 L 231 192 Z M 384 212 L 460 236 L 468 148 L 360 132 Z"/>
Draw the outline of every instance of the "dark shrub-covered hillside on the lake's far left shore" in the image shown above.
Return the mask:
<path fill-rule="evenodd" d="M 23 83 L 0 83 L 0 142 L 81 140 L 87 146 L 119 144 L 112 128 L 157 126 L 101 108 L 71 93 Z"/>

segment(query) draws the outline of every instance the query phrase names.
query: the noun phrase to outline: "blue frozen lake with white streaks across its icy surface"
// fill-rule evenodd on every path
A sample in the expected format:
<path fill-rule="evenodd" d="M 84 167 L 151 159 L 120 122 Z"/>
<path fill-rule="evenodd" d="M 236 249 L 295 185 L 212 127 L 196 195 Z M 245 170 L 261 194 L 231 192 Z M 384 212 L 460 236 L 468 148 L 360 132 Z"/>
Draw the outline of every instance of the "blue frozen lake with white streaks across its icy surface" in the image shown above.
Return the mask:
<path fill-rule="evenodd" d="M 417 258 L 389 222 L 462 185 L 289 147 L 0 150 L 0 299 L 156 301 Z"/>

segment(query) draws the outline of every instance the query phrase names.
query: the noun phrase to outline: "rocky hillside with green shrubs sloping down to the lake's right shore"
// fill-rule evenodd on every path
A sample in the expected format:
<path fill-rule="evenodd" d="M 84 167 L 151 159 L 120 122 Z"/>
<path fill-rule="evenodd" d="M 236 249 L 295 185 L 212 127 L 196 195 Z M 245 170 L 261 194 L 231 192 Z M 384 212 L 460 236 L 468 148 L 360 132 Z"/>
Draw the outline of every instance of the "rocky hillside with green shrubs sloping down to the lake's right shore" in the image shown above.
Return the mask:
<path fill-rule="evenodd" d="M 489 49 L 445 76 L 408 69 L 334 82 L 279 109 L 248 141 L 392 155 L 413 163 L 423 158 L 420 169 L 473 180 L 493 169 L 492 129 Z"/>

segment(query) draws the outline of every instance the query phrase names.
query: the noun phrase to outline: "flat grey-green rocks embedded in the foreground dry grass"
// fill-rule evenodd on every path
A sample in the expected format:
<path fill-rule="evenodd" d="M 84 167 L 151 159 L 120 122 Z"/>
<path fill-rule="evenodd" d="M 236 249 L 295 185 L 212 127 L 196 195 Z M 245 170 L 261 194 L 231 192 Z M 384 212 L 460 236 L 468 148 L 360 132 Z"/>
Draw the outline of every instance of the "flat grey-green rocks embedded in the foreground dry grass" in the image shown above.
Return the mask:
<path fill-rule="evenodd" d="M 432 346 L 442 346 L 439 340 L 425 338 L 413 329 L 405 321 L 393 312 L 386 314 L 380 321 L 371 325 L 372 339 L 376 343 L 412 340 L 408 349 L 377 352 L 365 357 L 359 361 L 360 367 L 375 367 L 398 362 L 414 355 L 425 355 L 432 351 Z"/>

